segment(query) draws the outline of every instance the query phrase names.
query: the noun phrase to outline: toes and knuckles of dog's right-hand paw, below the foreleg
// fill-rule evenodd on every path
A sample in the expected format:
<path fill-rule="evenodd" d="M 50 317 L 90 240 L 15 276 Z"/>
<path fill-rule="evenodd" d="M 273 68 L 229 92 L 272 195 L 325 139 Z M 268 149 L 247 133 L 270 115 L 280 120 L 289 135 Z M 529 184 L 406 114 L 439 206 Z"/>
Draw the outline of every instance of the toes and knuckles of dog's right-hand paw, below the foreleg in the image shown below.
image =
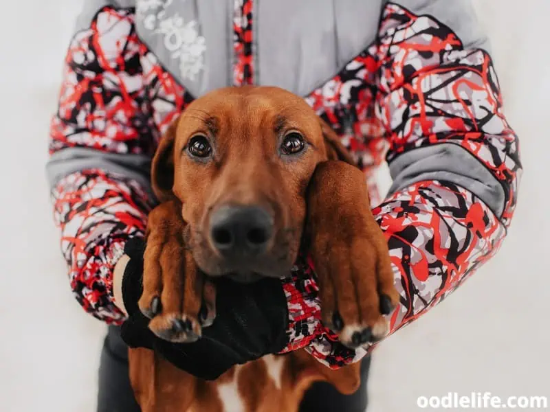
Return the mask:
<path fill-rule="evenodd" d="M 314 256 L 323 323 L 352 349 L 380 341 L 389 331 L 384 315 L 399 299 L 389 254 L 364 237 L 329 244 L 329 253 Z"/>

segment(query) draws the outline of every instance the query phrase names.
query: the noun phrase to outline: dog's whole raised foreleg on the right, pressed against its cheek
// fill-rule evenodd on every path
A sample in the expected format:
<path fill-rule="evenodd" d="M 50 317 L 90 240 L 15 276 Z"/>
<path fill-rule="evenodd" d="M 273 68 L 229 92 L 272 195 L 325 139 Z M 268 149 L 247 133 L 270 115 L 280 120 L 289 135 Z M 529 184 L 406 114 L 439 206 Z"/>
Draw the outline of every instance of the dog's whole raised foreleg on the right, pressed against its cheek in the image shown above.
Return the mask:
<path fill-rule="evenodd" d="M 342 161 L 320 163 L 308 192 L 307 238 L 319 278 L 323 323 L 355 348 L 388 332 L 397 305 L 384 234 L 364 174 Z"/>

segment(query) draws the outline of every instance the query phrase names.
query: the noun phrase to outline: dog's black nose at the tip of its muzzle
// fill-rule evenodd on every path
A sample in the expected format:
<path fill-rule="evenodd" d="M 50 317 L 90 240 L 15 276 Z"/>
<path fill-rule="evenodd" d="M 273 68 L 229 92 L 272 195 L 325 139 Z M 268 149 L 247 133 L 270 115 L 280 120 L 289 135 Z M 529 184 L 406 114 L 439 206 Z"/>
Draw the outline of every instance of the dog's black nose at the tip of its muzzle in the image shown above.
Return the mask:
<path fill-rule="evenodd" d="M 214 247 L 228 258 L 259 255 L 273 233 L 273 218 L 256 206 L 223 206 L 210 216 Z"/>

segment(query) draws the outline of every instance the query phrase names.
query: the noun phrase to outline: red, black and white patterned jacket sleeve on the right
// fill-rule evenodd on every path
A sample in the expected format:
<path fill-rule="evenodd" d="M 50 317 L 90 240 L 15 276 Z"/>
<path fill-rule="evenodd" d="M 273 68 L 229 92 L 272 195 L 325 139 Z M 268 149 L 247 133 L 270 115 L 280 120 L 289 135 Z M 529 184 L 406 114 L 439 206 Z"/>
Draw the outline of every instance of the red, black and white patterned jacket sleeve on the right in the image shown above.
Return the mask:
<path fill-rule="evenodd" d="M 470 1 L 404 0 L 386 4 L 377 40 L 360 56 L 393 178 L 373 209 L 401 295 L 391 333 L 487 262 L 514 214 L 518 139 L 487 48 Z M 347 350 L 320 325 L 308 345 L 329 367 L 372 349 Z"/>

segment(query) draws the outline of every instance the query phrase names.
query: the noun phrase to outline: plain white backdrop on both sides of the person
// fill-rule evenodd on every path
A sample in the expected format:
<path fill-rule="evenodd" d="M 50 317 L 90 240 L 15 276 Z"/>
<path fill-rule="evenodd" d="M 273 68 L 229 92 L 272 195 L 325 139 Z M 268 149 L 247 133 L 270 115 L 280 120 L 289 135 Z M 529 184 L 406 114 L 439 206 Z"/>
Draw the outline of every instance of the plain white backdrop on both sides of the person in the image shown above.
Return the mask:
<path fill-rule="evenodd" d="M 104 326 L 74 301 L 44 165 L 61 63 L 82 0 L 5 1 L 0 23 L 0 411 L 95 411 Z M 449 0 L 450 1 L 450 0 Z M 525 174 L 500 253 L 377 350 L 369 411 L 418 396 L 550 396 L 548 0 L 477 0 Z"/>

